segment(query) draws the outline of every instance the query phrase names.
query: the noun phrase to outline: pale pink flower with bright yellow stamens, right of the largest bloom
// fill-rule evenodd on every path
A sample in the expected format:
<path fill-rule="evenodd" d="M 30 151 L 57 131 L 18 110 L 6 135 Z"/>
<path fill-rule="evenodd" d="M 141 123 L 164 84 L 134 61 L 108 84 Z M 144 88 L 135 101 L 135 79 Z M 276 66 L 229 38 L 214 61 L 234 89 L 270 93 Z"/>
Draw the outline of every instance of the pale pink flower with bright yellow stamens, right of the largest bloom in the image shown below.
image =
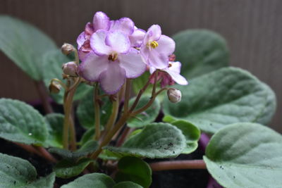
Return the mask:
<path fill-rule="evenodd" d="M 147 65 L 157 69 L 168 67 L 168 56 L 173 54 L 176 43 L 170 37 L 161 35 L 161 27 L 149 27 L 141 46 L 141 55 Z"/>

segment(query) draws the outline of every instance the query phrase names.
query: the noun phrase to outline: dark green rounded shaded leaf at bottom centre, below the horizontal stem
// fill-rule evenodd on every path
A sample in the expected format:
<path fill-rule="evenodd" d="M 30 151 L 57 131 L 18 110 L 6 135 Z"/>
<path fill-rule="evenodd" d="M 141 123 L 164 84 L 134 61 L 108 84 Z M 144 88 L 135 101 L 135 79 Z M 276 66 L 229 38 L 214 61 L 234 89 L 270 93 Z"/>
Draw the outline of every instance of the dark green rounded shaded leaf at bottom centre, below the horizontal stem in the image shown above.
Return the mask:
<path fill-rule="evenodd" d="M 125 156 L 118 161 L 115 181 L 131 181 L 147 188 L 152 183 L 152 170 L 141 158 Z"/>

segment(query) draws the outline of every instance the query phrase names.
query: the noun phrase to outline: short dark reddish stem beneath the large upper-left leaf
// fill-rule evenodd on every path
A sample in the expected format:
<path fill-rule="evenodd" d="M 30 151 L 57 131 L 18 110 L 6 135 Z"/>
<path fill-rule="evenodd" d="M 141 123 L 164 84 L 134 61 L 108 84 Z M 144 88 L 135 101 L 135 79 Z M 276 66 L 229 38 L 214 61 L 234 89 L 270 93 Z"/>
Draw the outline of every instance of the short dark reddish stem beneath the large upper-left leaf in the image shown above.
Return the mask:
<path fill-rule="evenodd" d="M 42 101 L 45 113 L 53 113 L 51 104 L 49 103 L 49 95 L 43 81 L 35 81 L 35 87 Z"/>

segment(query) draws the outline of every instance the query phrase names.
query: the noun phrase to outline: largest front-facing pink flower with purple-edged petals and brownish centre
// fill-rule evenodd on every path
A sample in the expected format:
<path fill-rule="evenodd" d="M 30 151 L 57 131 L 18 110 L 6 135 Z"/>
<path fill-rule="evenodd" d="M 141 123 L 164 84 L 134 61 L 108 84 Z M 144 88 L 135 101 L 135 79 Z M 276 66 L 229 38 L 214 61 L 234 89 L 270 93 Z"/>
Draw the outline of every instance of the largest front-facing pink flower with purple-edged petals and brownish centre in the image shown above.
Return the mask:
<path fill-rule="evenodd" d="M 131 47 L 130 39 L 121 32 L 121 27 L 112 27 L 119 31 L 98 30 L 92 34 L 90 46 L 93 51 L 79 67 L 80 75 L 85 80 L 100 82 L 107 94 L 115 94 L 124 84 L 125 78 L 139 77 L 146 70 L 139 51 Z"/>

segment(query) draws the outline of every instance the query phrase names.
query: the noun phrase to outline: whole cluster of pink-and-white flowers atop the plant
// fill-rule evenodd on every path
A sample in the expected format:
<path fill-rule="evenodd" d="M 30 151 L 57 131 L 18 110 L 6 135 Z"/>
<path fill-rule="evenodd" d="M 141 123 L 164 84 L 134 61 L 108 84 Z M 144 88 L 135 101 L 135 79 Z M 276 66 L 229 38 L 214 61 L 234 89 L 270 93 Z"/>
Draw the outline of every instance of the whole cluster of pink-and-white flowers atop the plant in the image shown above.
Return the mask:
<path fill-rule="evenodd" d="M 99 82 L 107 94 L 115 94 L 126 78 L 139 77 L 146 70 L 160 70 L 157 79 L 162 87 L 174 82 L 188 84 L 180 75 L 180 62 L 170 58 L 175 42 L 161 35 L 159 25 L 145 32 L 130 18 L 110 20 L 105 13 L 97 12 L 77 42 L 82 61 L 79 74 L 85 80 Z"/>

